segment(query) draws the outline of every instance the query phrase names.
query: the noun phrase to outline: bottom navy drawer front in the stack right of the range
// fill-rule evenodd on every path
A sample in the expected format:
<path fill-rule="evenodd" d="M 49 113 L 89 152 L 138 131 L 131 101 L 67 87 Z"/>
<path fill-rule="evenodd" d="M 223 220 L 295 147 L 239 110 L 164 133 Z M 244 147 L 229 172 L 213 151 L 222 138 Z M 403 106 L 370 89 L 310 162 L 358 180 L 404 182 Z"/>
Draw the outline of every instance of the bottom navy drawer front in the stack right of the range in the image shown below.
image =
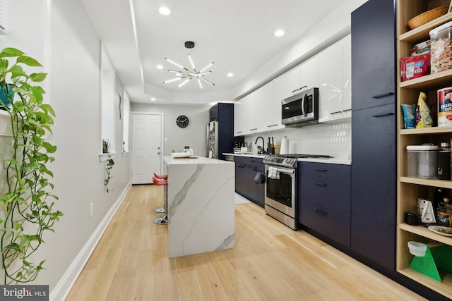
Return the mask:
<path fill-rule="evenodd" d="M 304 202 L 298 211 L 299 223 L 350 247 L 350 215 L 314 202 Z"/>

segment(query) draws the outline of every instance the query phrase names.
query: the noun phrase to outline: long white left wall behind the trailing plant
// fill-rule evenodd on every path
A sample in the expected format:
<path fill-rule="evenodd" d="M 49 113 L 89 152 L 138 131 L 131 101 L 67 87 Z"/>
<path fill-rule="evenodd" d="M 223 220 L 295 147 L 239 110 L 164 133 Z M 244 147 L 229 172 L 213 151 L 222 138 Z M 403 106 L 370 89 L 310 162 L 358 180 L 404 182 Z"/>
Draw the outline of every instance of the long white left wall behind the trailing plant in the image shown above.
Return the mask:
<path fill-rule="evenodd" d="M 50 169 L 54 172 L 54 194 L 59 197 L 56 207 L 64 216 L 54 226 L 55 233 L 45 233 L 46 243 L 34 257 L 46 259 L 46 270 L 35 283 L 50 285 L 55 300 L 61 300 L 75 280 L 71 276 L 76 276 L 86 259 L 81 255 L 85 256 L 93 247 L 96 230 L 104 225 L 106 216 L 129 187 L 130 157 L 121 154 L 123 125 L 115 105 L 119 154 L 114 158 L 110 192 L 105 192 L 105 164 L 100 162 L 100 40 L 80 1 L 6 2 L 7 35 L 0 36 L 0 45 L 19 47 L 44 64 L 49 72 L 44 99 L 57 113 L 50 140 L 58 149 Z M 118 79 L 116 82 L 117 91 L 124 95 L 121 82 Z M 4 149 L 4 140 L 8 138 L 1 139 L 0 149 Z M 94 206 L 93 216 L 90 204 Z M 69 271 L 71 275 L 67 274 Z M 59 295 L 55 295 L 55 288 L 60 290 Z"/>

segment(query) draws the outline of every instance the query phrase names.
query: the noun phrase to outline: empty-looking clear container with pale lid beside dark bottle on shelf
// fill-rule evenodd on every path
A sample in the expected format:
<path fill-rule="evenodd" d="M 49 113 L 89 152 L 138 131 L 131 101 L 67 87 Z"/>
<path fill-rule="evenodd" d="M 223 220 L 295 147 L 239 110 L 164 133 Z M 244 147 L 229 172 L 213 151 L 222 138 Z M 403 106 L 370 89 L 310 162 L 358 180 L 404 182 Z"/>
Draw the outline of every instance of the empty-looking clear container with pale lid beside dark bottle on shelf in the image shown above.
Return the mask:
<path fill-rule="evenodd" d="M 407 146 L 407 176 L 414 178 L 436 178 L 438 171 L 438 149 L 436 145 Z"/>

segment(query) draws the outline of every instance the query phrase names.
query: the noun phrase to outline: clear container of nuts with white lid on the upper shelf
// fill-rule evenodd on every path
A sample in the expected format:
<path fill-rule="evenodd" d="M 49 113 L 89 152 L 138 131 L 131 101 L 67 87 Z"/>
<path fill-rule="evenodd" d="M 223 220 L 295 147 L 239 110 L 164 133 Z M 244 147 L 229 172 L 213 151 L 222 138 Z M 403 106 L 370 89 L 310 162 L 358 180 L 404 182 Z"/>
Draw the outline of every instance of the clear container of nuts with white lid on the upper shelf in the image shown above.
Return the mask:
<path fill-rule="evenodd" d="M 452 21 L 436 27 L 430 35 L 431 73 L 452 68 Z"/>

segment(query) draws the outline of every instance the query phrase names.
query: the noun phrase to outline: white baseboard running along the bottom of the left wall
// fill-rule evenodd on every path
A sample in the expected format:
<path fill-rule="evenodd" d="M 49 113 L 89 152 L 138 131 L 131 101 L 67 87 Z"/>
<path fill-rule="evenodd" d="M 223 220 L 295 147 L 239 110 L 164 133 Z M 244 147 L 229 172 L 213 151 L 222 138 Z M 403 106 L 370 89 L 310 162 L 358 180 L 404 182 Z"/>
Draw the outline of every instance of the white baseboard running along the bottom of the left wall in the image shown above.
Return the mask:
<path fill-rule="evenodd" d="M 83 267 L 88 262 L 88 259 L 90 259 L 91 254 L 93 254 L 97 243 L 99 242 L 100 238 L 102 238 L 102 235 L 107 229 L 107 226 L 112 220 L 114 214 L 118 210 L 119 205 L 121 205 L 122 201 L 124 200 L 124 197 L 126 197 L 126 193 L 127 191 L 129 191 L 130 187 L 131 182 L 126 185 L 121 195 L 119 195 L 117 201 L 114 202 L 113 206 L 109 209 L 107 214 L 105 214 L 104 219 L 102 219 L 99 226 L 97 226 L 93 235 L 91 235 L 90 239 L 86 242 L 83 249 L 78 253 L 76 259 L 74 259 L 71 266 L 69 266 L 69 269 L 66 271 L 66 273 L 64 273 L 63 277 L 61 277 L 61 280 L 52 290 L 49 295 L 49 301 L 64 300 L 66 299 L 67 295 L 69 295 L 71 288 L 73 287 L 74 283 L 76 283 L 78 276 L 83 271 Z"/>

